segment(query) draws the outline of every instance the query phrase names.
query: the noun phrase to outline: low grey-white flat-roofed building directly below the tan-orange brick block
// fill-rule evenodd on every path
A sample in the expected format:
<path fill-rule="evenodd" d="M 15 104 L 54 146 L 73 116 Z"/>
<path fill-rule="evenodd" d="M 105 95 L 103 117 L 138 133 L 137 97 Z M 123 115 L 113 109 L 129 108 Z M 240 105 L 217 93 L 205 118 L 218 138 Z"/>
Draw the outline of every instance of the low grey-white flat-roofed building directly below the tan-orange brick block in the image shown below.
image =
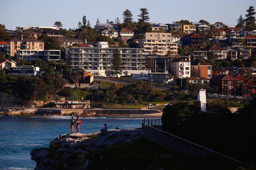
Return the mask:
<path fill-rule="evenodd" d="M 36 59 L 50 61 L 60 61 L 60 50 L 17 50 L 17 58 L 32 62 Z"/>

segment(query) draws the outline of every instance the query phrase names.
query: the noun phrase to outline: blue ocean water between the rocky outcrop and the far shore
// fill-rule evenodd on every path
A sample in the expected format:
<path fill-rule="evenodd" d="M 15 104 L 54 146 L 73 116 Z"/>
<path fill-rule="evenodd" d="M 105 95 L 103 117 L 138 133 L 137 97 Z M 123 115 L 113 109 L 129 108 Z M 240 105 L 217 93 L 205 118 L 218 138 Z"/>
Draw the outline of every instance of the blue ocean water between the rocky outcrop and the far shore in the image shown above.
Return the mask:
<path fill-rule="evenodd" d="M 49 147 L 50 141 L 71 132 L 70 116 L 1 116 L 0 117 L 0 169 L 34 169 L 30 151 Z M 141 118 L 133 117 L 81 117 L 81 133 L 108 129 L 140 128 Z M 76 129 L 75 129 L 76 132 Z"/>

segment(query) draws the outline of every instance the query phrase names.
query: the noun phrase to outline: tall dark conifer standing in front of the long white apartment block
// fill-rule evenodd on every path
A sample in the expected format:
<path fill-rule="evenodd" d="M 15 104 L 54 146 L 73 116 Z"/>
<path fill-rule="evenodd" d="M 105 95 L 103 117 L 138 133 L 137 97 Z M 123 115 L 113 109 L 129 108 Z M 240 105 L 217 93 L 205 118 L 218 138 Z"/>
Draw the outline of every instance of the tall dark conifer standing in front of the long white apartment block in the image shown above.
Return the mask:
<path fill-rule="evenodd" d="M 123 60 L 121 58 L 121 52 L 116 49 L 113 53 L 113 57 L 111 59 L 112 69 L 114 70 L 114 75 L 122 74 L 123 72 Z"/>

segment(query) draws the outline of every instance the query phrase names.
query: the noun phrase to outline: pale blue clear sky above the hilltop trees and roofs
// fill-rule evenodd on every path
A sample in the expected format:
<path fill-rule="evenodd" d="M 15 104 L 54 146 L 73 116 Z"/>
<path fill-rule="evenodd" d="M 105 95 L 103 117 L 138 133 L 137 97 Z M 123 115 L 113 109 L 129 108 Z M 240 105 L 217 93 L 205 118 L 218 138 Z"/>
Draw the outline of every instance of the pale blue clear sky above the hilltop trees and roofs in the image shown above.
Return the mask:
<path fill-rule="evenodd" d="M 118 17 L 123 21 L 122 13 L 129 9 L 133 19 L 138 20 L 140 8 L 147 8 L 152 23 L 172 23 L 181 19 L 198 22 L 204 19 L 211 24 L 221 21 L 232 27 L 240 15 L 245 16 L 249 6 L 255 6 L 255 0 L 34 0 L 24 3 L 20 0 L 2 1 L 0 9 L 4 14 L 0 24 L 7 29 L 15 30 L 17 26 L 53 26 L 55 21 L 61 21 L 63 28 L 77 28 L 79 21 L 85 15 L 93 27 L 99 18 L 100 23 L 106 20 L 115 21 Z"/>

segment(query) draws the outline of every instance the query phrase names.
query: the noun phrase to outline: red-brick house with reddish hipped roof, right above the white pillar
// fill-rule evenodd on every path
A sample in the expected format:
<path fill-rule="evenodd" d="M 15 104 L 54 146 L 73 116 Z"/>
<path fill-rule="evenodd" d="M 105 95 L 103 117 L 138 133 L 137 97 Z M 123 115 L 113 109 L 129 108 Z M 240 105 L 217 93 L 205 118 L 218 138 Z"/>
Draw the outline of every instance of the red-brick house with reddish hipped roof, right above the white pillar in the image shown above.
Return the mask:
<path fill-rule="evenodd" d="M 210 79 L 211 85 L 217 85 L 219 87 L 219 92 L 222 94 L 230 94 L 233 91 L 234 86 L 232 85 L 233 80 L 237 80 L 240 82 L 239 79 L 234 78 L 228 74 L 220 74 L 216 77 Z"/>

